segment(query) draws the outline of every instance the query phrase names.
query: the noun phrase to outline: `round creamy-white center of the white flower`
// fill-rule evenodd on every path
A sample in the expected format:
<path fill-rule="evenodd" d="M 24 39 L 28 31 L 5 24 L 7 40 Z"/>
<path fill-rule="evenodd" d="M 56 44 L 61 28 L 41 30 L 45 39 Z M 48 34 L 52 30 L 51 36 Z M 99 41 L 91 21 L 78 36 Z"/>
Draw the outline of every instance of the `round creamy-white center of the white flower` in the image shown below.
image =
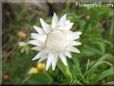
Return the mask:
<path fill-rule="evenodd" d="M 67 46 L 66 34 L 61 30 L 52 30 L 46 39 L 46 48 L 52 53 L 59 53 Z"/>

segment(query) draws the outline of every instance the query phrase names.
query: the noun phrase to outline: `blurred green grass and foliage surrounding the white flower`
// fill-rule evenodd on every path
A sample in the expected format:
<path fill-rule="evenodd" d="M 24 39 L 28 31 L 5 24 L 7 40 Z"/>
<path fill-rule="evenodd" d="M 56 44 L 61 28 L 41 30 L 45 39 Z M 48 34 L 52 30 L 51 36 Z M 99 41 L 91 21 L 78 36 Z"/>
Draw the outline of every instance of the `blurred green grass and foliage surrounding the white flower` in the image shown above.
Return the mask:
<path fill-rule="evenodd" d="M 76 7 L 75 2 L 2 4 L 2 84 L 112 84 L 114 81 L 114 14 L 112 7 Z M 81 53 L 72 53 L 68 67 L 61 61 L 55 71 L 27 75 L 36 64 L 37 52 L 18 42 L 30 39 L 39 18 L 51 23 L 53 13 L 64 13 L 74 23 L 72 31 L 81 31 Z M 23 51 L 23 52 L 21 52 Z"/>

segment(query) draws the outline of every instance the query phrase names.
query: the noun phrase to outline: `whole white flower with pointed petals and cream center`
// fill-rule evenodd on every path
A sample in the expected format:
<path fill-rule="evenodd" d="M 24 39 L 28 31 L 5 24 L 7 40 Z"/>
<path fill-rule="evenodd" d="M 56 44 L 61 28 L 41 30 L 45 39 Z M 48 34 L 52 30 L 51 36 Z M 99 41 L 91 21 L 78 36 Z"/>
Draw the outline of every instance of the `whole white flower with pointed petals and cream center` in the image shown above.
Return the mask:
<path fill-rule="evenodd" d="M 39 51 L 32 59 L 39 59 L 42 62 L 47 59 L 46 70 L 52 64 L 52 69 L 55 70 L 58 59 L 60 58 L 64 65 L 67 65 L 67 57 L 71 58 L 70 52 L 80 53 L 80 51 L 73 47 L 81 45 L 76 39 L 80 38 L 81 32 L 72 32 L 70 29 L 73 23 L 66 19 L 66 14 L 58 20 L 54 13 L 52 24 L 47 24 L 40 18 L 42 28 L 34 26 L 37 33 L 31 33 L 32 40 L 30 44 L 35 45 L 32 50 Z"/>

